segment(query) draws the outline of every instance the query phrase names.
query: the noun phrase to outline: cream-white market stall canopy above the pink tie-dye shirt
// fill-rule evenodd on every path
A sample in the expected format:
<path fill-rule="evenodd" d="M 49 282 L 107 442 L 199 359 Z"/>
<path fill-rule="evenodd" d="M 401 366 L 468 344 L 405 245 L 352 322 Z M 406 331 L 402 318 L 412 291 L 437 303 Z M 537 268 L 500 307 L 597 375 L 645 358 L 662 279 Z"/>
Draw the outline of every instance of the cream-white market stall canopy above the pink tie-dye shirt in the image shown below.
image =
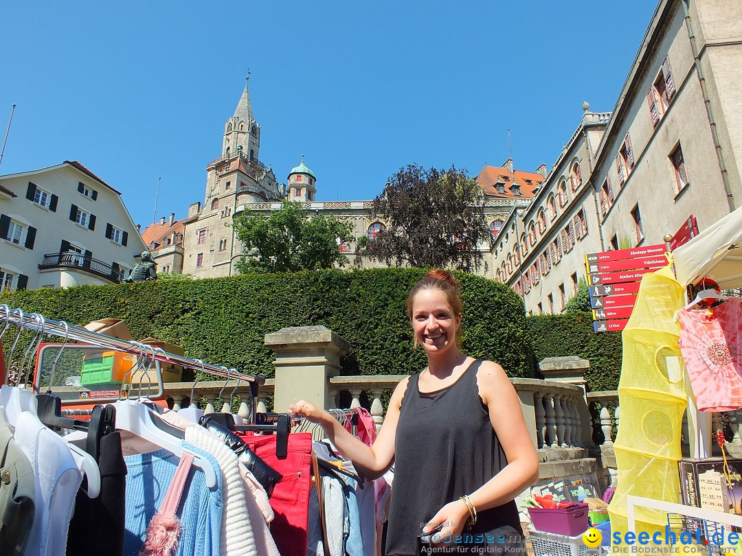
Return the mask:
<path fill-rule="evenodd" d="M 677 281 L 695 284 L 711 278 L 721 289 L 742 286 L 742 208 L 672 252 Z"/>

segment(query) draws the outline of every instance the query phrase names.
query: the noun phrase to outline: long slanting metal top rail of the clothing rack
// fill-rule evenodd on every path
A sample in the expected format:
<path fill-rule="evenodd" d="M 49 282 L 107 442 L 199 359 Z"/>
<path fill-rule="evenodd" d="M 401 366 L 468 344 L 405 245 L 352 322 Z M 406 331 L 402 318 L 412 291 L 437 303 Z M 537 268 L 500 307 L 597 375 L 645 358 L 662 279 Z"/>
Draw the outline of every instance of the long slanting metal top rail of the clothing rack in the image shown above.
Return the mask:
<path fill-rule="evenodd" d="M 250 397 L 252 402 L 250 404 L 250 421 L 255 423 L 257 391 L 266 381 L 263 374 L 246 374 L 237 371 L 236 368 L 230 369 L 223 366 L 220 367 L 209 363 L 203 363 L 201 360 L 168 353 L 162 348 L 155 348 L 154 346 L 142 344 L 141 342 L 119 340 L 119 338 L 100 334 L 99 332 L 89 331 L 79 326 L 68 325 L 65 321 L 46 319 L 42 315 L 24 313 L 21 309 L 10 309 L 8 305 L 0 305 L 0 330 L 4 332 L 10 325 L 26 328 L 27 330 L 36 331 L 37 333 L 40 332 L 41 334 L 39 334 L 37 343 L 40 343 L 40 340 L 45 334 L 50 334 L 63 338 L 65 343 L 68 340 L 75 340 L 76 342 L 83 342 L 100 348 L 113 348 L 116 351 L 123 351 L 137 356 L 145 356 L 148 360 L 159 361 L 160 363 L 174 363 L 182 367 L 194 369 L 195 371 L 208 372 L 209 374 L 214 374 L 228 380 L 244 380 L 246 383 L 249 383 L 250 386 Z M 34 383 L 34 394 L 38 393 L 36 390 L 36 384 Z"/>

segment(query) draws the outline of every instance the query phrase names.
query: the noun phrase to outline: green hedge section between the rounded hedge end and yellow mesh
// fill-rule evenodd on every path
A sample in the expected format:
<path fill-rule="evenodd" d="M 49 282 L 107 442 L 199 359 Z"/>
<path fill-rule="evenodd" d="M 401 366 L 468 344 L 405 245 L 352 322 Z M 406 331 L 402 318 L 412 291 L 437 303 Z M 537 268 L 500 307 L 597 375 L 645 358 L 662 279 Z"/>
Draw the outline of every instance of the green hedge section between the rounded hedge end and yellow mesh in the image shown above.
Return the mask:
<path fill-rule="evenodd" d="M 590 313 L 539 315 L 526 319 L 536 360 L 577 355 L 590 361 L 588 391 L 616 390 L 621 374 L 621 334 L 593 330 Z"/>

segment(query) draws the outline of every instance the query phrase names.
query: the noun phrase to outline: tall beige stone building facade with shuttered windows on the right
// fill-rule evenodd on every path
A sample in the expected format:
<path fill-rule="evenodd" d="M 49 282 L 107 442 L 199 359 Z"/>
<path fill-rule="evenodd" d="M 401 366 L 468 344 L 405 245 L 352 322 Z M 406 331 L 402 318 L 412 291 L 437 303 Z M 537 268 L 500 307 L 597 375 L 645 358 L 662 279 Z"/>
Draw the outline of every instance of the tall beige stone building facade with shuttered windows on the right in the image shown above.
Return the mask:
<path fill-rule="evenodd" d="M 494 277 L 527 311 L 562 311 L 585 254 L 662 243 L 691 215 L 703 231 L 740 205 L 740 37 L 733 2 L 660 2 L 614 112 L 585 111 L 542 190 L 508 216 L 510 237 L 498 237 Z"/>

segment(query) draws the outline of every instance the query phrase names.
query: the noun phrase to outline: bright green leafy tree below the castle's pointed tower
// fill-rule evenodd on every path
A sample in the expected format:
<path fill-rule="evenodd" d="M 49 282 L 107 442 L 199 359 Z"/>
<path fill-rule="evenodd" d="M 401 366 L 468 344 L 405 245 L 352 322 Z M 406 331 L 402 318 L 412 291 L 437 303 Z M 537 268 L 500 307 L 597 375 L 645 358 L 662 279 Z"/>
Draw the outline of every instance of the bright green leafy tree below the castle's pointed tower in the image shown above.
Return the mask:
<path fill-rule="evenodd" d="M 244 255 L 237 261 L 240 272 L 343 266 L 348 259 L 339 244 L 353 239 L 351 222 L 341 222 L 332 215 L 308 218 L 300 203 L 287 200 L 268 218 L 246 211 L 234 219 L 234 228 L 244 245 Z"/>

